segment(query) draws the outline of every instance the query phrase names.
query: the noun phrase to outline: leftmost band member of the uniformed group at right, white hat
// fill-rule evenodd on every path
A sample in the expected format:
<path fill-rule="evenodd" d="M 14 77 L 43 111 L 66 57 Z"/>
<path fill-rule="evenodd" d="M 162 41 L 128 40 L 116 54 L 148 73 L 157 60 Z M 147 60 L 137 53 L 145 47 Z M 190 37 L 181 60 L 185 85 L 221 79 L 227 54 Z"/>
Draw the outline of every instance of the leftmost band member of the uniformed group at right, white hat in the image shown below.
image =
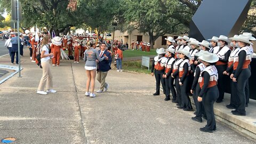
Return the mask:
<path fill-rule="evenodd" d="M 154 76 L 155 74 L 155 78 L 156 78 L 156 92 L 153 95 L 160 94 L 160 81 L 163 86 L 164 94 L 166 92 L 163 74 L 164 74 L 165 62 L 167 58 L 164 57 L 164 54 L 165 54 L 164 48 L 156 49 L 156 53 L 157 53 L 157 56 L 154 58 L 152 62 L 152 67 L 151 67 L 151 75 Z"/>

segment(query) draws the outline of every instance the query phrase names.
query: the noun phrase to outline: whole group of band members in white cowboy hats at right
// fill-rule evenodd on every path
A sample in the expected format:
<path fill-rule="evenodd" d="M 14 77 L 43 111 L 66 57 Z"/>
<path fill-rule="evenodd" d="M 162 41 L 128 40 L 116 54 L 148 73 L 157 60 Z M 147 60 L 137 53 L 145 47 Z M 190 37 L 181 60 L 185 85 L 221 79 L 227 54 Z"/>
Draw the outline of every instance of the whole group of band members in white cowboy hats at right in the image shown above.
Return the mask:
<path fill-rule="evenodd" d="M 230 38 L 213 36 L 209 42 L 198 42 L 188 36 L 179 36 L 175 41 L 172 37 L 166 40 L 167 49 L 157 49 L 158 55 L 152 63 L 151 75 L 156 78 L 153 95 L 160 94 L 161 83 L 165 101 L 171 100 L 171 94 L 177 108 L 192 111 L 191 93 L 196 106 L 196 116 L 191 119 L 201 123 L 202 118 L 207 119 L 206 126 L 200 130 L 212 133 L 216 130 L 213 104 L 222 102 L 227 85 L 230 85 L 230 104 L 226 107 L 234 109 L 231 110 L 233 115 L 246 115 L 252 41 L 256 40 L 251 33 Z"/>

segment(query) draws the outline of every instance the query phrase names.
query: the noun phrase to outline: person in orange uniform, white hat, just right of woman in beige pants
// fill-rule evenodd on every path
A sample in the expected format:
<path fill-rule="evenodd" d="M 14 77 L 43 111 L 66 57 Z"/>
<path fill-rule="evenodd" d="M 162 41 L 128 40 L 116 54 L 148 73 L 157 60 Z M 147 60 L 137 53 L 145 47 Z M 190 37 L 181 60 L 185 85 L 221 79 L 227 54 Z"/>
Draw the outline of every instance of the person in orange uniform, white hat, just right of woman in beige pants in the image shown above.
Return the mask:
<path fill-rule="evenodd" d="M 52 66 L 60 66 L 60 49 L 62 49 L 63 45 L 61 42 L 61 37 L 54 37 L 52 39 L 51 49 L 53 50 L 53 63 Z"/>

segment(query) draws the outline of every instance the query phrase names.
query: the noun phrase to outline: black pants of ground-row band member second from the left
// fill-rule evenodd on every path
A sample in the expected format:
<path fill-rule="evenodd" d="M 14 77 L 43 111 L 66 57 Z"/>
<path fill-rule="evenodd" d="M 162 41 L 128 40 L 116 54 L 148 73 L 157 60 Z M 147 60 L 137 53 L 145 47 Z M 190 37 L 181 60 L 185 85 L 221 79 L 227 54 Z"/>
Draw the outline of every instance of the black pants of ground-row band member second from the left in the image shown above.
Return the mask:
<path fill-rule="evenodd" d="M 166 98 L 170 97 L 170 92 L 171 92 L 172 93 L 172 99 L 176 100 L 177 95 L 176 95 L 174 85 L 173 85 L 174 78 L 172 76 L 169 76 L 169 77 L 164 78 L 164 79 L 165 79 L 165 89 L 166 89 L 165 96 L 166 96 Z"/>

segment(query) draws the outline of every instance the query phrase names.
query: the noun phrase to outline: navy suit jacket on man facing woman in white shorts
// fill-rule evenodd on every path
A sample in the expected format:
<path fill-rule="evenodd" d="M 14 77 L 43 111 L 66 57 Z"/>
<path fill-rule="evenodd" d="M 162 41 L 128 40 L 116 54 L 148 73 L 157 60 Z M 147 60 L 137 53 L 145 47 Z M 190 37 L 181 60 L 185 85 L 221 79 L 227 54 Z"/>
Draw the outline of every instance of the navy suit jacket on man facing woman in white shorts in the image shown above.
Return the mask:
<path fill-rule="evenodd" d="M 99 54 L 100 54 L 100 51 L 101 50 L 99 50 Z M 105 55 L 108 57 L 108 60 L 104 59 L 104 60 L 102 60 L 98 63 L 99 64 L 98 65 L 98 70 L 103 71 L 103 72 L 109 71 L 109 69 L 111 69 L 111 67 L 109 66 L 109 62 L 112 62 L 112 57 L 111 57 L 110 53 L 107 50 L 105 50 L 103 52 L 103 54 L 101 54 L 101 58 L 104 57 Z"/>

